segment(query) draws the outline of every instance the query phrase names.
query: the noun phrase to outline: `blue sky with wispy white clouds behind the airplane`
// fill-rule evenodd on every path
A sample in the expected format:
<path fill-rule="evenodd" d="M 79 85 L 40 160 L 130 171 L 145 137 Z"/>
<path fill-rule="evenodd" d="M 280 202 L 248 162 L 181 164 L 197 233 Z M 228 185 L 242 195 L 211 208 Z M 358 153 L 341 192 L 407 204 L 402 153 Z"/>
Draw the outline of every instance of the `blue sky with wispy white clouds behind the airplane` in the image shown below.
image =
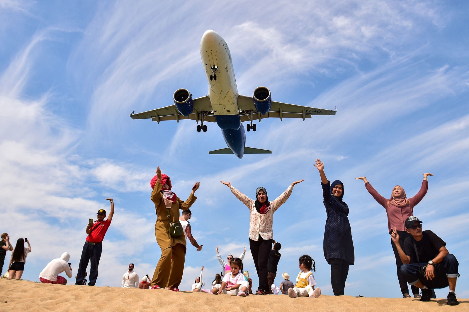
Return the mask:
<path fill-rule="evenodd" d="M 249 210 L 219 181 L 272 200 L 292 182 L 274 215 L 282 244 L 276 283 L 295 276 L 310 254 L 323 294 L 332 295 L 322 242 L 325 209 L 320 158 L 329 180 L 344 182 L 356 251 L 346 294 L 401 297 L 385 210 L 355 177 L 383 196 L 400 184 L 408 196 L 431 172 L 414 214 L 447 243 L 460 263 L 456 294 L 469 297 L 469 4 L 456 1 L 13 1 L 0 0 L 0 232 L 28 237 L 23 278 L 38 281 L 64 251 L 76 269 L 88 218 L 116 212 L 103 246 L 99 286 L 120 286 L 129 262 L 152 275 L 154 237 L 150 180 L 157 166 L 187 198 L 200 181 L 182 290 L 205 266 L 210 284 L 220 254 L 249 252 Z M 184 87 L 208 93 L 200 38 L 217 31 L 229 45 L 240 94 L 259 86 L 272 99 L 335 116 L 263 119 L 247 145 L 271 155 L 208 155 L 226 147 L 209 123 L 132 120 L 130 112 L 172 104 Z M 7 262 L 8 264 L 8 262 Z M 4 265 L 4 271 L 7 264 Z M 437 290 L 445 297 L 447 289 Z"/>

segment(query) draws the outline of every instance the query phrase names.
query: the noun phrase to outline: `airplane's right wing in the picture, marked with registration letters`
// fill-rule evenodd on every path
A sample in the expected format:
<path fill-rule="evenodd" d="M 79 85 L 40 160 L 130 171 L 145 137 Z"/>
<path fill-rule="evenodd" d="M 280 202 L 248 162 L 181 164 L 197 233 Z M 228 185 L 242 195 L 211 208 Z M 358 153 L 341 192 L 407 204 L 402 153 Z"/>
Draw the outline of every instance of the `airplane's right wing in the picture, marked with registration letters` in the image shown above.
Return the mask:
<path fill-rule="evenodd" d="M 238 108 L 245 114 L 241 115 L 241 121 L 249 121 L 252 112 L 253 119 L 263 119 L 268 117 L 277 117 L 282 120 L 283 118 L 311 118 L 311 115 L 335 115 L 336 110 L 330 109 L 317 109 L 314 107 L 301 106 L 295 104 L 288 104 L 282 102 L 272 101 L 272 105 L 267 114 L 261 115 L 257 112 L 254 106 L 254 101 L 251 96 L 239 95 Z"/>

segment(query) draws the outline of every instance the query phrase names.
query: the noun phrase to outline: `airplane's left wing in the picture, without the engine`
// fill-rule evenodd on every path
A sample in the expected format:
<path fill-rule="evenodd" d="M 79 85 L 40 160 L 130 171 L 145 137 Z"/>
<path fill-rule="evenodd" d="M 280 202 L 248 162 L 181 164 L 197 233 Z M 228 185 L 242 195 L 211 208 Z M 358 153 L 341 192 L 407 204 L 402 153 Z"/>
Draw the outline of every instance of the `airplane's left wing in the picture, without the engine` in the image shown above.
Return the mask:
<path fill-rule="evenodd" d="M 148 119 L 151 118 L 151 121 L 164 121 L 164 120 L 176 120 L 179 123 L 180 119 L 192 119 L 197 122 L 202 119 L 204 116 L 204 122 L 215 122 L 215 116 L 212 114 L 212 105 L 210 104 L 210 98 L 205 95 L 203 97 L 198 97 L 194 99 L 194 110 L 189 116 L 182 115 L 178 110 L 176 105 L 170 105 L 162 107 L 159 109 L 152 109 L 142 113 L 132 112 L 130 117 L 132 119 Z"/>

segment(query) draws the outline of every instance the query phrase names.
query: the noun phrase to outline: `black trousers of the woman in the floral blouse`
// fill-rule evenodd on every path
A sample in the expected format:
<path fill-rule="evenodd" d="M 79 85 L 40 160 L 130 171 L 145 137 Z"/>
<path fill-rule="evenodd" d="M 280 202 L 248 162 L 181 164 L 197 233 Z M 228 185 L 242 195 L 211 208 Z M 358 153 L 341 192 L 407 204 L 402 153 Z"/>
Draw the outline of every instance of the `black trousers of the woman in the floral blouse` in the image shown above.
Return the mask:
<path fill-rule="evenodd" d="M 249 239 L 252 259 L 256 266 L 257 276 L 259 277 L 259 290 L 269 293 L 269 283 L 267 282 L 267 262 L 269 261 L 270 250 L 272 249 L 272 239 L 263 239 L 259 235 L 259 240 Z"/>

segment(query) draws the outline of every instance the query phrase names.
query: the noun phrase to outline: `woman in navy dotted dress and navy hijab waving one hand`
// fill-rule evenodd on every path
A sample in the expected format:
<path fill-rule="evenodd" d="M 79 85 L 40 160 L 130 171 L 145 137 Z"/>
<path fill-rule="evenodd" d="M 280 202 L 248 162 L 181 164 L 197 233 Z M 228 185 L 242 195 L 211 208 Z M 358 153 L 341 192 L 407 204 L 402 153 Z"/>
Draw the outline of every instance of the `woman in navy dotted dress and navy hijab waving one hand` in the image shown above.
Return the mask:
<path fill-rule="evenodd" d="M 327 213 L 324 231 L 324 257 L 331 265 L 331 285 L 334 295 L 344 295 L 348 267 L 355 263 L 352 230 L 348 222 L 348 206 L 342 201 L 344 184 L 335 180 L 332 184 L 324 173 L 324 163 L 316 160 L 314 165 L 321 176 L 324 206 Z"/>

